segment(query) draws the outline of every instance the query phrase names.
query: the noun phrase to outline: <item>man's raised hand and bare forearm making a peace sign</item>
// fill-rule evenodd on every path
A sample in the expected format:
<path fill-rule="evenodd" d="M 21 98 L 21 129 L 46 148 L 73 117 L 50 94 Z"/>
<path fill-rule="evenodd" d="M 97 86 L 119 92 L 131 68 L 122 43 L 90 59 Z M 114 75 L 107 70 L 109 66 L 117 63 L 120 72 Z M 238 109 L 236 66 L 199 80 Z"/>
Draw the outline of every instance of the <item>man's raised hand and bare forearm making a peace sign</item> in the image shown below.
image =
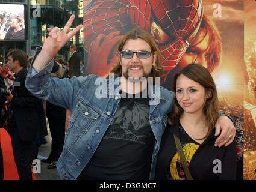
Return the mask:
<path fill-rule="evenodd" d="M 75 16 L 70 16 L 64 29 L 60 31 L 60 28 L 48 28 L 49 37 L 43 43 L 43 47 L 36 60 L 34 61 L 33 67 L 36 70 L 42 70 L 52 58 L 58 53 L 61 47 L 67 43 L 67 41 L 73 37 L 81 28 L 82 25 L 76 26 L 75 29 L 69 32 L 69 28 L 73 23 Z"/>

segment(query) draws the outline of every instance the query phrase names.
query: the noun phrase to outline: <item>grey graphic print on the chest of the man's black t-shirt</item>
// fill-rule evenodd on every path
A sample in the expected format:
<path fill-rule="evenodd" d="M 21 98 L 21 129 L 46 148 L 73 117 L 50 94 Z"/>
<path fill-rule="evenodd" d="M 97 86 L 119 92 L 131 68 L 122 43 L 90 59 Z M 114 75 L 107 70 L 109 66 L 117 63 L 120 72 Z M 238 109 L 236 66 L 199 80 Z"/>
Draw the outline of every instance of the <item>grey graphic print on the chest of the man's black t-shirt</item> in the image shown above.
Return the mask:
<path fill-rule="evenodd" d="M 135 101 L 119 106 L 104 139 L 122 139 L 145 144 L 149 136 L 149 106 Z"/>

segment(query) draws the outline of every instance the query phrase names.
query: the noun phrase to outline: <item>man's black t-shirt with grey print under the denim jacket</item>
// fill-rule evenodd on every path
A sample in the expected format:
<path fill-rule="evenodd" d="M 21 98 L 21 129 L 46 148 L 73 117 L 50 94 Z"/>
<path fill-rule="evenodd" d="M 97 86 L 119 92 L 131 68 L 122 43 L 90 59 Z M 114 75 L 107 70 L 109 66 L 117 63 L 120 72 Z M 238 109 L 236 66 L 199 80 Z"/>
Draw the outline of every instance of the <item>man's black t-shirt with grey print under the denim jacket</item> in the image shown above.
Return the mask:
<path fill-rule="evenodd" d="M 149 98 L 130 97 L 126 94 L 120 100 L 113 121 L 78 179 L 149 179 L 155 144 Z"/>

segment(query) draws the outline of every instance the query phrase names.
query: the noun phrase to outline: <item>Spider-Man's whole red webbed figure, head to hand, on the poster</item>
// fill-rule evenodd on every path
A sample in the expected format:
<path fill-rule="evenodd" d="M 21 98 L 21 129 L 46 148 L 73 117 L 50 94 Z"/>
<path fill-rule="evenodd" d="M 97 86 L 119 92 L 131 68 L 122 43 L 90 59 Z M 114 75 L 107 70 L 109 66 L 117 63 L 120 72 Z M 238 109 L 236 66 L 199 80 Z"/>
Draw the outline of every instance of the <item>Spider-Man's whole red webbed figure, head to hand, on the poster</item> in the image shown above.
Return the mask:
<path fill-rule="evenodd" d="M 96 0 L 84 8 L 84 50 L 86 59 L 92 41 L 100 34 L 113 31 L 125 34 L 131 28 L 140 26 L 150 31 L 160 48 L 164 81 L 178 64 L 183 53 L 197 34 L 202 20 L 201 0 Z M 101 42 L 98 43 L 100 45 Z M 101 52 L 111 50 L 108 59 L 97 60 L 86 67 L 86 74 L 107 74 L 111 59 L 116 55 L 116 44 L 107 43 Z M 90 57 L 90 53 L 89 53 Z M 97 68 L 93 65 L 98 65 Z M 99 70 L 99 65 L 101 70 Z M 103 71 L 102 71 L 103 70 Z M 163 81 L 163 82 L 164 82 Z"/>

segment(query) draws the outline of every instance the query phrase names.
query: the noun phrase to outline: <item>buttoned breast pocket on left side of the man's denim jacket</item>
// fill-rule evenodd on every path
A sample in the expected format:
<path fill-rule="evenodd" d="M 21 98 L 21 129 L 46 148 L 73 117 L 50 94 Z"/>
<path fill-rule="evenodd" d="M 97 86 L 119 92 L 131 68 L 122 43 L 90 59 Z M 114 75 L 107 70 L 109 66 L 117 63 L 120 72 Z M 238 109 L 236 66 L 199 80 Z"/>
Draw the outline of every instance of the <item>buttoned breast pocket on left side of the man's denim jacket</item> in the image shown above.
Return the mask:
<path fill-rule="evenodd" d="M 88 133 L 92 127 L 95 127 L 100 116 L 100 114 L 92 109 L 92 107 L 83 103 L 78 104 L 77 113 L 78 115 L 76 116 L 73 125 L 76 130 L 81 131 L 82 133 Z"/>

